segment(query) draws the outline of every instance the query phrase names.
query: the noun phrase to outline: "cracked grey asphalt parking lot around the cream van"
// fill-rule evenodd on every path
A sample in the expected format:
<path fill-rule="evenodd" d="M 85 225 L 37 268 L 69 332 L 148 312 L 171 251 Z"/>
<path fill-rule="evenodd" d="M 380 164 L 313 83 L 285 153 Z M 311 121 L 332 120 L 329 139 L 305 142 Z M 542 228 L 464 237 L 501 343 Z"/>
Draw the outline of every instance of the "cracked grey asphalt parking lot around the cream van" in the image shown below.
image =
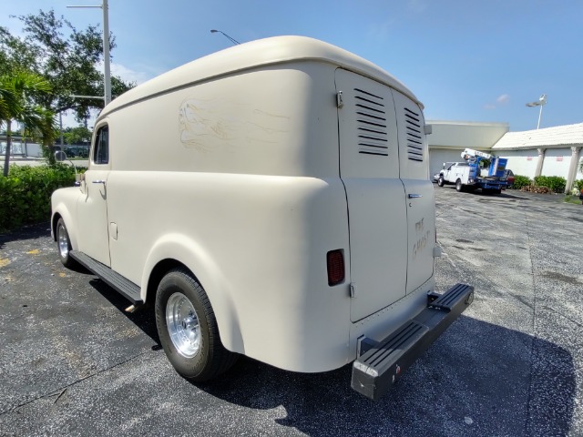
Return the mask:
<path fill-rule="evenodd" d="M 476 300 L 381 401 L 241 359 L 181 379 L 148 311 L 64 269 L 47 225 L 0 235 L 0 435 L 583 435 L 583 207 L 435 186 L 439 291 Z"/>

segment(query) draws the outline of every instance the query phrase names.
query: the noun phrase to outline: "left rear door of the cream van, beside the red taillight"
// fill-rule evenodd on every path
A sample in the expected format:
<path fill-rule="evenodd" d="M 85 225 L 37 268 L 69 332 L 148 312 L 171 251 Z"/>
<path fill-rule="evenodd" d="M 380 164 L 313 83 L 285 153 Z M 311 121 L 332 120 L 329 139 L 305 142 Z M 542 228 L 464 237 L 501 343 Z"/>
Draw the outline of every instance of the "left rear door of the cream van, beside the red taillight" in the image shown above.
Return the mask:
<path fill-rule="evenodd" d="M 341 68 L 335 80 L 356 321 L 404 297 L 407 211 L 391 89 Z"/>

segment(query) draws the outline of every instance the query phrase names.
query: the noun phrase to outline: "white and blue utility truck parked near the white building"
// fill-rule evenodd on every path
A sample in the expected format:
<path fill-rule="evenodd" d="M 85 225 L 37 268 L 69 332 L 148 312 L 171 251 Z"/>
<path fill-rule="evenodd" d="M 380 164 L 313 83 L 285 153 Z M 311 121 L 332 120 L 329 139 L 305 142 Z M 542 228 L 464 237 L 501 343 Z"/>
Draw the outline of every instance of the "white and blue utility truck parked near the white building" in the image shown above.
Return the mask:
<path fill-rule="evenodd" d="M 448 166 L 444 164 L 437 178 L 439 187 L 455 184 L 457 191 L 473 191 L 481 188 L 484 194 L 500 194 L 508 185 L 504 177 L 506 158 L 471 148 L 464 149 L 462 158 L 464 162 L 447 163 Z"/>

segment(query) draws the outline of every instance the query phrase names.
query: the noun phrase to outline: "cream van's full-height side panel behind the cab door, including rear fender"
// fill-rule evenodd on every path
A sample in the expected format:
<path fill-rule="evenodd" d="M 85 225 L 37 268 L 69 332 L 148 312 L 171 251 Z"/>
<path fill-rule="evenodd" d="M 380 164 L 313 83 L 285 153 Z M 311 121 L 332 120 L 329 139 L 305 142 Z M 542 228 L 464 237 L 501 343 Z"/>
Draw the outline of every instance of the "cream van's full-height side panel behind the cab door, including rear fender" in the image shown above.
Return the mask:
<path fill-rule="evenodd" d="M 247 72 L 108 116 L 112 268 L 144 292 L 144 266 L 174 253 L 224 346 L 291 371 L 353 358 L 348 278 L 330 287 L 326 266 L 343 249 L 350 271 L 333 72 Z"/>

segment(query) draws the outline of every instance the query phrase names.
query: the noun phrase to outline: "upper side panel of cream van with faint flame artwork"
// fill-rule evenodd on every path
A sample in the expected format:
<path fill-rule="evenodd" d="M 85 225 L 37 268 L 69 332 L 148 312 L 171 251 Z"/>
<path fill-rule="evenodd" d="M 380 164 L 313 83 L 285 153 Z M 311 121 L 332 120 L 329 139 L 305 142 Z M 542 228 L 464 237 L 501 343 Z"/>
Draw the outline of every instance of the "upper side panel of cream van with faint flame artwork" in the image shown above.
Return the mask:
<path fill-rule="evenodd" d="M 333 67 L 308 62 L 152 97 L 109 116 L 112 169 L 338 177 L 334 99 Z"/>

